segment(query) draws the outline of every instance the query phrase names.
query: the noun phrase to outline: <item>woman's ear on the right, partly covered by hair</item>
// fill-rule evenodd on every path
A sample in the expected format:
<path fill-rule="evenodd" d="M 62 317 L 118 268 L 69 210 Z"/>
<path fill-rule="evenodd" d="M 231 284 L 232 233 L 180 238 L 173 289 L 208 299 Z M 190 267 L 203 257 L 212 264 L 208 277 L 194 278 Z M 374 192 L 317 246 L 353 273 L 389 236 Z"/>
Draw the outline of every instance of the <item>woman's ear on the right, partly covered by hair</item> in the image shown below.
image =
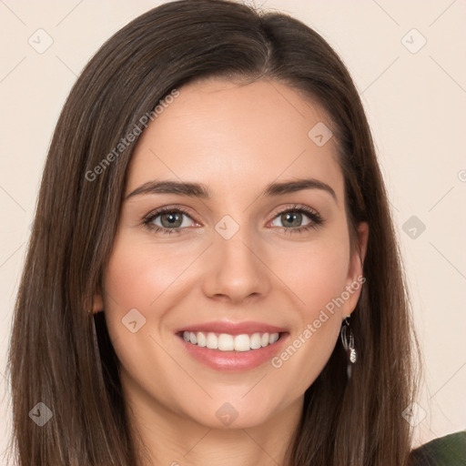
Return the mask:
<path fill-rule="evenodd" d="M 358 299 L 360 299 L 362 284 L 366 281 L 362 273 L 369 238 L 369 225 L 367 222 L 360 222 L 357 235 L 357 244 L 351 251 L 351 256 L 349 258 L 348 277 L 346 282 L 346 290 L 349 293 L 349 299 L 345 303 L 345 314 L 343 317 L 349 317 L 351 312 L 356 308 Z"/>

